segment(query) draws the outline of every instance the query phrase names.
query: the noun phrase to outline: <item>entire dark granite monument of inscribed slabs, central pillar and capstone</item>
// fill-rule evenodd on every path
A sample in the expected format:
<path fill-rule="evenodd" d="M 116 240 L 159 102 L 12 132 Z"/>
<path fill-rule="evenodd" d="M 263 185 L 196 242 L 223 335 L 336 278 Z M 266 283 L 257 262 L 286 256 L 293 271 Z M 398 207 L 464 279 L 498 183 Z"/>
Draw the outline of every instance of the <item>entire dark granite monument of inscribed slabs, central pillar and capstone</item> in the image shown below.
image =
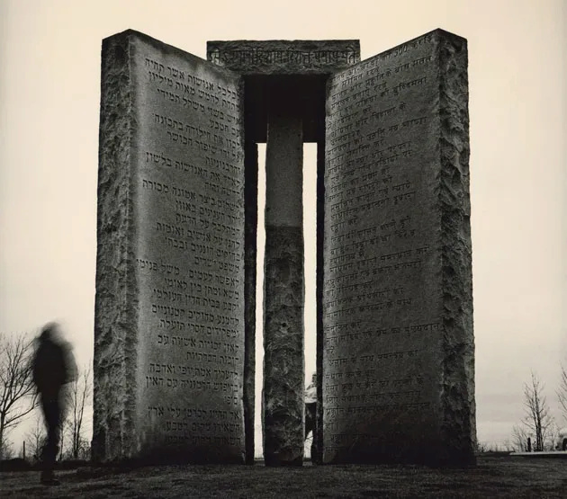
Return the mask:
<path fill-rule="evenodd" d="M 317 460 L 474 462 L 466 40 L 103 41 L 94 458 L 303 459 L 302 144 L 318 145 Z"/>

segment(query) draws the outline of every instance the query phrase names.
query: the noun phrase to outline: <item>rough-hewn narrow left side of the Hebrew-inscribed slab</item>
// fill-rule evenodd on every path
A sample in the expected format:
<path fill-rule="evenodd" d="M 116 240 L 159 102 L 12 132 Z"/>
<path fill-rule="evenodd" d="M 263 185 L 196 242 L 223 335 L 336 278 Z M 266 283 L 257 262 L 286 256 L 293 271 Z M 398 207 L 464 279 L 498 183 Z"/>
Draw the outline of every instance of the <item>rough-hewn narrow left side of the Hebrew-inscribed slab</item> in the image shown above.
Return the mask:
<path fill-rule="evenodd" d="M 136 133 L 131 31 L 103 40 L 94 299 L 93 458 L 134 450 L 138 283 L 131 240 Z"/>

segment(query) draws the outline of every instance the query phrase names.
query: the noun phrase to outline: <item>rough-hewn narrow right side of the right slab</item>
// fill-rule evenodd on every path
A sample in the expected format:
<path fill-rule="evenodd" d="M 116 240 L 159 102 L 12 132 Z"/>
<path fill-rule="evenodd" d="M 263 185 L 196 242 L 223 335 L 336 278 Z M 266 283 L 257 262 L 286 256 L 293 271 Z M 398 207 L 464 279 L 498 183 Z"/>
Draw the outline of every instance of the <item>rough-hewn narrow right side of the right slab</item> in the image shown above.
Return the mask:
<path fill-rule="evenodd" d="M 445 464 L 475 463 L 473 270 L 469 188 L 467 41 L 437 30 L 439 58 L 438 202 L 441 215 L 441 433 Z"/>

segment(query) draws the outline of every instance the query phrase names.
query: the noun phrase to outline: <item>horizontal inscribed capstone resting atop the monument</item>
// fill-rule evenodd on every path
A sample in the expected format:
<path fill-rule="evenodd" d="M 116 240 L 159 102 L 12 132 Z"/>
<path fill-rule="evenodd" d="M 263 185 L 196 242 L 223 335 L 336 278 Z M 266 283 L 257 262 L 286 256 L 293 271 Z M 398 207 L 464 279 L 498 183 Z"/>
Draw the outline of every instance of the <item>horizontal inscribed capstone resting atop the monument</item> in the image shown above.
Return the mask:
<path fill-rule="evenodd" d="M 360 60 L 359 40 L 207 41 L 207 60 L 242 75 L 317 75 Z"/>

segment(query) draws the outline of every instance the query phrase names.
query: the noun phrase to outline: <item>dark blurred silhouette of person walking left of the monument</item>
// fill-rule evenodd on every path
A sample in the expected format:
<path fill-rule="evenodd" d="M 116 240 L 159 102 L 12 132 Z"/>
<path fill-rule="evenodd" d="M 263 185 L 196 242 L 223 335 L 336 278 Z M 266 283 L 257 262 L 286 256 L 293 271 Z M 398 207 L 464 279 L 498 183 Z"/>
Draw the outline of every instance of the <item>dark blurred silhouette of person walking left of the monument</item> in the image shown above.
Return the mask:
<path fill-rule="evenodd" d="M 33 382 L 40 396 L 41 411 L 47 428 L 47 443 L 42 452 L 40 481 L 44 485 L 58 485 L 54 475 L 61 425 L 65 415 L 64 385 L 76 379 L 76 363 L 72 347 L 63 340 L 57 323 L 43 327 L 33 359 Z"/>

